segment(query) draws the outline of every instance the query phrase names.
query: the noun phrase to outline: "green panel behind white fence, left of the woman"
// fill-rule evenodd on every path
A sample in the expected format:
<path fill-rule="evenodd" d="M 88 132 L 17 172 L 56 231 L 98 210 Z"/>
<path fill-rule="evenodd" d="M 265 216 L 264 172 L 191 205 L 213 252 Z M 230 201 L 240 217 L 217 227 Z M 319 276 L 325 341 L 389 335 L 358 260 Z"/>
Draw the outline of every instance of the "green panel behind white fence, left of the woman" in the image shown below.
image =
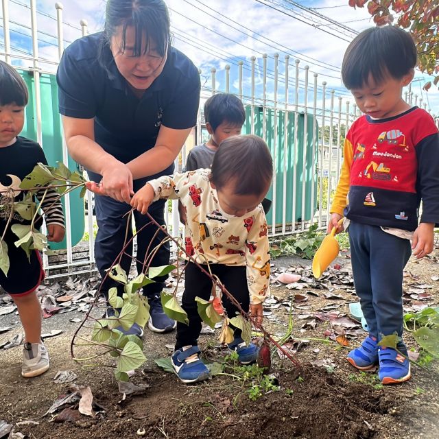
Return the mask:
<path fill-rule="evenodd" d="M 29 104 L 25 110 L 25 126 L 21 135 L 37 141 L 36 137 L 36 112 L 35 112 L 35 82 L 32 71 L 19 70 L 29 90 Z M 40 95 L 41 95 L 41 121 L 43 134 L 43 150 L 47 162 L 55 166 L 57 161 L 62 162 L 62 128 L 61 118 L 58 112 L 58 84 L 56 76 L 49 73 L 40 74 Z M 69 156 L 69 169 L 78 171 L 78 163 Z M 65 213 L 65 200 L 62 199 Z M 70 193 L 70 219 L 71 219 L 71 244 L 75 246 L 84 236 L 85 228 L 85 205 L 80 198 L 80 190 L 75 189 Z M 51 243 L 54 250 L 67 248 L 67 242 Z"/>

